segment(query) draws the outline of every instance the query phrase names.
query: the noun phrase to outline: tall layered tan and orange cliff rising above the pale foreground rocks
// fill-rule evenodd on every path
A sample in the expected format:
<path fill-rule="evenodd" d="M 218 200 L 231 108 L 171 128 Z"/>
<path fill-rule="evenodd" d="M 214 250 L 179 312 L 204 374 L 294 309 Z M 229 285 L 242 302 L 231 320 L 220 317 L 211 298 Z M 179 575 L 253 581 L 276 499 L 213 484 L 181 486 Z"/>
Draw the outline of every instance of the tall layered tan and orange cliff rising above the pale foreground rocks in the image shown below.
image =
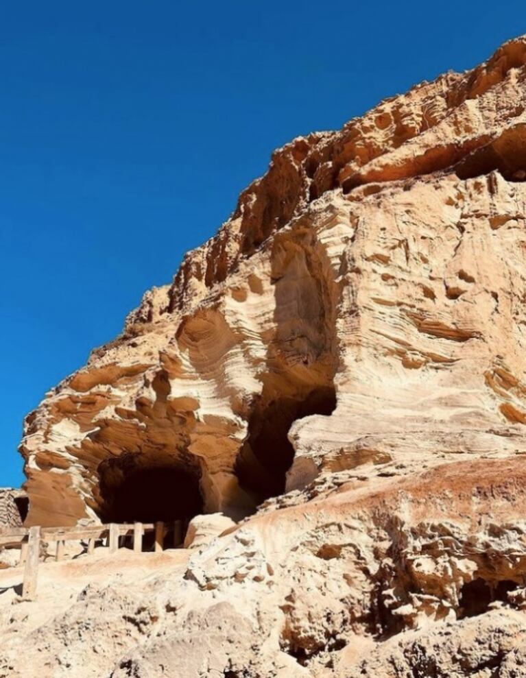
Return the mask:
<path fill-rule="evenodd" d="M 525 451 L 525 60 L 278 149 L 27 417 L 29 523 L 118 515 L 160 468 L 239 518 L 324 472 Z"/>

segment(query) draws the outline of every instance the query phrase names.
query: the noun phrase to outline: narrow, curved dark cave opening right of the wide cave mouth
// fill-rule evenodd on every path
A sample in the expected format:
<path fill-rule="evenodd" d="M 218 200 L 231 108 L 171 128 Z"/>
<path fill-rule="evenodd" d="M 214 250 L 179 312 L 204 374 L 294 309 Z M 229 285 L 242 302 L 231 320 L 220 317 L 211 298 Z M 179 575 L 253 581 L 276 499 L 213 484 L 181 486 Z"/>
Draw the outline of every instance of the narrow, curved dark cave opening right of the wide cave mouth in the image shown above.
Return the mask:
<path fill-rule="evenodd" d="M 287 434 L 292 424 L 309 415 L 330 415 L 336 407 L 333 386 L 316 387 L 303 398 L 274 398 L 256 403 L 248 422 L 248 437 L 239 452 L 239 483 L 256 503 L 283 494 L 285 476 L 294 460 Z"/>

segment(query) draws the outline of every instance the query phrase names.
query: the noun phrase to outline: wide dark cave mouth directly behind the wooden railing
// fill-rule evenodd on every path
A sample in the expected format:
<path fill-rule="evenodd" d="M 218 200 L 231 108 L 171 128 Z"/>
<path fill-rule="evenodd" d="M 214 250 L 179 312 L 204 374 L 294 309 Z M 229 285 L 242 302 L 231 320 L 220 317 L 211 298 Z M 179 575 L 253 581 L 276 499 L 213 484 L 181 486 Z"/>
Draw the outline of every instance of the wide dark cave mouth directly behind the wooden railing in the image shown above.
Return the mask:
<path fill-rule="evenodd" d="M 204 513 L 197 473 L 180 465 L 119 461 L 99 469 L 103 522 L 188 522 Z"/>

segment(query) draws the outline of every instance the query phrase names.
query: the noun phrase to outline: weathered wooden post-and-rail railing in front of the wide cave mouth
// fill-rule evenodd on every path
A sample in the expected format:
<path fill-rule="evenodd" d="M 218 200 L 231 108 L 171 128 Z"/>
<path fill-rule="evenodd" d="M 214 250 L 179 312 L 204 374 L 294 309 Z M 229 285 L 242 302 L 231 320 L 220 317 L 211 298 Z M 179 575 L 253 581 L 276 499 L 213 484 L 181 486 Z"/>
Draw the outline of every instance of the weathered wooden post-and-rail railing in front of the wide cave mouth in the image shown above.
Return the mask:
<path fill-rule="evenodd" d="M 93 553 L 95 542 L 106 540 L 108 553 L 115 553 L 126 537 L 132 537 L 133 550 L 143 550 L 143 536 L 154 533 L 154 550 L 162 551 L 167 533 L 174 530 L 174 547 L 182 546 L 185 524 L 183 520 L 174 523 L 109 523 L 105 525 L 73 526 L 73 527 L 14 527 L 0 530 L 0 546 L 20 547 L 20 564 L 25 566 L 22 584 L 22 598 L 34 601 L 40 561 L 40 547 L 44 544 L 56 543 L 55 559 L 64 558 L 64 546 L 70 541 L 87 541 L 86 552 Z"/>

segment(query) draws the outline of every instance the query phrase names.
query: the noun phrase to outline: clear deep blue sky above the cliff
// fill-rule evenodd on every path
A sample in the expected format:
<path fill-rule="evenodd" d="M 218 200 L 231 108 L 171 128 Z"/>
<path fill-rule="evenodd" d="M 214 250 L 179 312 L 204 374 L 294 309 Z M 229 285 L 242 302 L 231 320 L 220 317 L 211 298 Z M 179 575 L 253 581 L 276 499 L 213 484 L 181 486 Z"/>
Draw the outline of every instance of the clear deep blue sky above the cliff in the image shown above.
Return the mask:
<path fill-rule="evenodd" d="M 0 485 L 23 480 L 24 415 L 272 149 L 523 32 L 523 4 L 502 1 L 2 3 Z"/>

